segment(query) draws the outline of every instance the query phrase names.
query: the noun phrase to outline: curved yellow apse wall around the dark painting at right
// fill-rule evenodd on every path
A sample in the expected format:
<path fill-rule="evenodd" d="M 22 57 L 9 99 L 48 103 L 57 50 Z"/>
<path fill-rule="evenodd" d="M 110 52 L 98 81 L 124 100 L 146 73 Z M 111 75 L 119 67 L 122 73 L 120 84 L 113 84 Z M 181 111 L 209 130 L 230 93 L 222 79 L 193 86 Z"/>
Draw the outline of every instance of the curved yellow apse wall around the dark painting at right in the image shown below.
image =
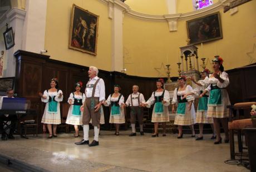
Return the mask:
<path fill-rule="evenodd" d="M 211 59 L 219 54 L 224 59 L 224 68 L 232 69 L 248 65 L 250 58 L 247 53 L 253 50 L 256 44 L 256 1 L 239 6 L 238 13 L 230 16 L 220 9 L 220 18 L 223 29 L 223 39 L 211 41 L 201 45 L 199 58 L 208 58 L 207 67 L 211 69 Z M 178 49 L 186 45 L 186 21 L 178 21 L 178 31 L 169 32 L 167 22 L 152 22 L 124 17 L 124 59 L 126 73 L 144 77 L 159 77 L 164 74 L 161 63 L 171 64 L 171 76 L 178 75 Z M 166 59 L 166 55 L 168 59 Z M 256 62 L 256 49 L 250 54 Z M 200 62 L 201 64 L 201 62 Z M 160 70 L 160 72 L 159 72 Z"/>

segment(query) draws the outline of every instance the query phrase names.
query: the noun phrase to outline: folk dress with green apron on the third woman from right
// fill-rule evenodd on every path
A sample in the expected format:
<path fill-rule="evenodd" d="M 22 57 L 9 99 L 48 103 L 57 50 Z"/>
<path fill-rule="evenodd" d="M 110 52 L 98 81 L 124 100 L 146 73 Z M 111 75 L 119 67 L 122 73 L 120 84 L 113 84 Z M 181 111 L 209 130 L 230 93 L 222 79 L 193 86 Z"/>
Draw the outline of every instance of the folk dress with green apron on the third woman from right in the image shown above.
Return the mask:
<path fill-rule="evenodd" d="M 178 104 L 174 124 L 175 125 L 193 125 L 195 124 L 195 108 L 194 103 L 191 104 L 191 109 L 188 110 L 189 102 L 194 101 L 195 98 L 192 95 L 188 95 L 183 98 L 183 95 L 190 93 L 193 88 L 190 85 L 184 86 L 185 90 L 179 91 L 175 88 L 173 101 L 171 104 Z"/>

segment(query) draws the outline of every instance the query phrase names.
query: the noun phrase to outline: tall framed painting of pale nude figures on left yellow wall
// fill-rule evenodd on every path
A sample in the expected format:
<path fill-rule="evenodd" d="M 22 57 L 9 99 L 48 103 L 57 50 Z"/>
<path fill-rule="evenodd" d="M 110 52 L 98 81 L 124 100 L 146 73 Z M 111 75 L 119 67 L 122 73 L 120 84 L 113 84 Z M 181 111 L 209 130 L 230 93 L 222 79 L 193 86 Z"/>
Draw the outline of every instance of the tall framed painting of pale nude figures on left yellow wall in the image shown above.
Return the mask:
<path fill-rule="evenodd" d="M 97 55 L 99 16 L 73 4 L 68 48 Z"/>

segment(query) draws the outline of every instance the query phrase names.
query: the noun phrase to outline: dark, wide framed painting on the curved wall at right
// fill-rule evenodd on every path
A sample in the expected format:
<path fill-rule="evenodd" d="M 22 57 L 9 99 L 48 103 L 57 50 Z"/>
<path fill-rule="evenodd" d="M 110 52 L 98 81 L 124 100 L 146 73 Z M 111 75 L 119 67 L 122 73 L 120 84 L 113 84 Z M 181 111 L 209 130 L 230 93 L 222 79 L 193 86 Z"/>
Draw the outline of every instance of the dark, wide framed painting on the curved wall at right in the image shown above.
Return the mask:
<path fill-rule="evenodd" d="M 186 21 L 186 28 L 190 44 L 204 43 L 223 38 L 219 12 Z"/>

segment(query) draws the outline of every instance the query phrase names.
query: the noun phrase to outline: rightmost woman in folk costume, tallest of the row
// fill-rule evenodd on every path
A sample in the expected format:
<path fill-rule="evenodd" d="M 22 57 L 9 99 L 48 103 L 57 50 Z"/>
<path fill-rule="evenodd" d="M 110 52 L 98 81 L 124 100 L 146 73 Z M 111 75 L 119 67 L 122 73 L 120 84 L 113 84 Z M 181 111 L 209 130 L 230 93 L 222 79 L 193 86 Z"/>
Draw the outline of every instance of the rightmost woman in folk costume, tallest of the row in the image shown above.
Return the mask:
<path fill-rule="evenodd" d="M 228 134 L 228 117 L 229 109 L 227 105 L 230 105 L 228 92 L 225 89 L 229 85 L 228 74 L 224 72 L 224 67 L 222 65 L 223 59 L 218 55 L 213 59 L 213 74 L 210 74 L 209 79 L 205 82 L 210 84 L 208 91 L 209 101 L 208 101 L 208 112 L 207 115 L 213 118 L 214 128 L 216 130 L 216 141 L 214 144 L 221 143 L 220 137 L 220 123 L 225 131 L 225 143 L 229 142 Z"/>

